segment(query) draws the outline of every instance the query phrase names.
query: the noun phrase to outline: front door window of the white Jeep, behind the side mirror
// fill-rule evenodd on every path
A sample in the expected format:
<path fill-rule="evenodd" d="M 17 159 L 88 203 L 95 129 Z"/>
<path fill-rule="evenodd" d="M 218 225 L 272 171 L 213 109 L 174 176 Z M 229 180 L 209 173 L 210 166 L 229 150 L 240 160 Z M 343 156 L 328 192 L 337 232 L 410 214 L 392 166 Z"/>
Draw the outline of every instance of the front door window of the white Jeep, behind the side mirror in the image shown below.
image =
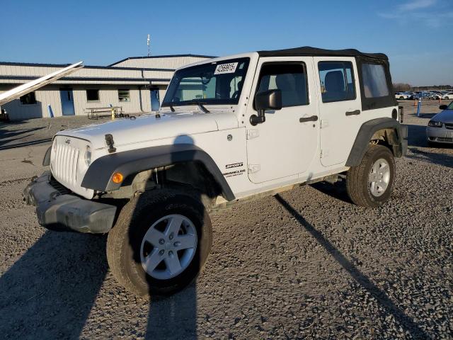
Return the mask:
<path fill-rule="evenodd" d="M 305 64 L 263 64 L 258 80 L 258 92 L 279 89 L 282 107 L 309 103 Z"/>

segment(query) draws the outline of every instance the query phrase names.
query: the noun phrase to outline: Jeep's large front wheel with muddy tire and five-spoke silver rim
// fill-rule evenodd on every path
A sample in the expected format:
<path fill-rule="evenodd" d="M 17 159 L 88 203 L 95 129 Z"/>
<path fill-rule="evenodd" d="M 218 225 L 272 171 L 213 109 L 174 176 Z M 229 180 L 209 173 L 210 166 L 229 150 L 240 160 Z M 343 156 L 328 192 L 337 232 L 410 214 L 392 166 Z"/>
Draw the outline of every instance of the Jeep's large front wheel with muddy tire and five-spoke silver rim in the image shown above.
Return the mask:
<path fill-rule="evenodd" d="M 209 215 L 197 193 L 161 189 L 130 200 L 108 234 L 117 281 L 136 295 L 168 295 L 194 280 L 212 245 Z"/>

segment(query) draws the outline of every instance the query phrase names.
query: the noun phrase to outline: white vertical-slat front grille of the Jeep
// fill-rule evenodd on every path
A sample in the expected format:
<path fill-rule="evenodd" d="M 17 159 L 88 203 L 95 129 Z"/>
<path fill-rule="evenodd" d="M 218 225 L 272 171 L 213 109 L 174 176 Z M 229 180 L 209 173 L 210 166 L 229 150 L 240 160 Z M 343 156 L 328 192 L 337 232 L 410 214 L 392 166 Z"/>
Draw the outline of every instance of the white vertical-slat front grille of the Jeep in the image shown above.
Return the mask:
<path fill-rule="evenodd" d="M 63 183 L 76 184 L 77 164 L 79 163 L 79 149 L 71 145 L 56 142 L 55 162 L 52 164 L 52 174 Z"/>

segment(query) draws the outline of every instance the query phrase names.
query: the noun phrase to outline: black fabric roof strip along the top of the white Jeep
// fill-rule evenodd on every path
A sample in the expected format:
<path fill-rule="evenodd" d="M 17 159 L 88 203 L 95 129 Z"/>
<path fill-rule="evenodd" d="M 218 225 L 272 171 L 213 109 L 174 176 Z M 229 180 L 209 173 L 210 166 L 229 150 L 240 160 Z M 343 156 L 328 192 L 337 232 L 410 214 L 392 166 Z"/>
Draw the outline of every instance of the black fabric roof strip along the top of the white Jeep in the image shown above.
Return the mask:
<path fill-rule="evenodd" d="M 389 60 L 384 53 L 363 53 L 355 49 L 347 50 L 324 50 L 323 48 L 316 47 L 294 47 L 287 48 L 285 50 L 274 50 L 274 51 L 258 51 L 260 57 L 292 57 L 298 55 L 305 56 L 338 56 L 338 57 L 368 57 L 380 60 Z"/>

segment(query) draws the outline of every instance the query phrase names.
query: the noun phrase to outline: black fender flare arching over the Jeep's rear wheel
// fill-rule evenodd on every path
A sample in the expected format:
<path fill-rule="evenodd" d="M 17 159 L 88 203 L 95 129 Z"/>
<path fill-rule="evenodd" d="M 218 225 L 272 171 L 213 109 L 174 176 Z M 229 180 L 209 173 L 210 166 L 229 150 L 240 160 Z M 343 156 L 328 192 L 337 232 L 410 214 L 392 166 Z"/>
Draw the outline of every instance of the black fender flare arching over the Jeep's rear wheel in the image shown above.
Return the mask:
<path fill-rule="evenodd" d="M 362 157 L 367 152 L 369 141 L 372 139 L 374 132 L 382 129 L 396 130 L 396 141 L 391 144 L 395 157 L 403 157 L 408 149 L 408 127 L 393 118 L 377 118 L 368 120 L 360 127 L 357 137 L 350 151 L 346 166 L 358 166 Z"/>

